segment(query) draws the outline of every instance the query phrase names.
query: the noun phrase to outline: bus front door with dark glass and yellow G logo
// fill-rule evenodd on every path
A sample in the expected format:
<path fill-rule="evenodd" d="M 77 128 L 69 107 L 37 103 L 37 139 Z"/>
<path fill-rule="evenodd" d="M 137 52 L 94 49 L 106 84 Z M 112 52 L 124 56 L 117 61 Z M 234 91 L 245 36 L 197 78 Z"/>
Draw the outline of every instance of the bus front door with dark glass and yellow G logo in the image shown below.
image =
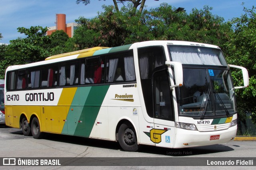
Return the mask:
<path fill-rule="evenodd" d="M 175 128 L 172 93 L 166 69 L 153 75 L 154 94 L 154 143 L 156 146 L 172 148 Z"/>

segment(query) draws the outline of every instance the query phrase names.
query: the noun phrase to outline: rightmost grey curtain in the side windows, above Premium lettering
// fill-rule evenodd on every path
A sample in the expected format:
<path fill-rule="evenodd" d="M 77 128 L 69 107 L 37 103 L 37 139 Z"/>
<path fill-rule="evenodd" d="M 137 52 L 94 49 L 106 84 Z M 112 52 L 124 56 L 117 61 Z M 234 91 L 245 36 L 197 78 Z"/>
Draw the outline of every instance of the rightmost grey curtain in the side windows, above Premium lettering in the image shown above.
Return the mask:
<path fill-rule="evenodd" d="M 126 81 L 135 80 L 135 70 L 133 57 L 124 57 L 124 70 Z"/>

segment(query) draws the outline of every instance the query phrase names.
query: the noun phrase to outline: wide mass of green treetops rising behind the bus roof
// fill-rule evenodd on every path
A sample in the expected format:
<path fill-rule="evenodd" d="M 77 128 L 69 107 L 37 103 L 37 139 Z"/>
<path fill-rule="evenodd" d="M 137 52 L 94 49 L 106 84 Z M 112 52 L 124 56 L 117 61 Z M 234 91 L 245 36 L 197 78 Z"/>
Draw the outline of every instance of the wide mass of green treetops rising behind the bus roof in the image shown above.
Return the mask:
<path fill-rule="evenodd" d="M 162 3 L 160 7 L 133 14 L 132 4 L 116 12 L 113 6 L 103 6 L 97 17 L 80 17 L 79 27 L 70 50 L 94 46 L 118 46 L 148 40 L 184 40 L 210 43 L 222 47 L 228 41 L 230 24 L 211 14 L 212 8 L 194 9 L 192 13 L 177 12 L 176 8 Z"/>

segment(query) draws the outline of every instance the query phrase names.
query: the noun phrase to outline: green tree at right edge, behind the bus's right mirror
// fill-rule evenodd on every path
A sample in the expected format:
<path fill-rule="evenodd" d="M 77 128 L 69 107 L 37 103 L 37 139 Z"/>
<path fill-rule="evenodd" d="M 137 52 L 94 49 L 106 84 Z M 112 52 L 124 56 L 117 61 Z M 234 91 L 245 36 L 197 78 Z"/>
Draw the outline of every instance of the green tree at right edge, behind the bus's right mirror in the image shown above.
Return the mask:
<path fill-rule="evenodd" d="M 226 43 L 228 63 L 240 65 L 248 70 L 250 83 L 246 89 L 237 89 L 237 105 L 241 112 L 240 117 L 245 117 L 245 112 L 252 113 L 252 121 L 256 123 L 256 8 L 244 7 L 244 14 L 240 18 L 233 18 L 230 21 L 234 30 L 230 41 Z M 242 75 L 239 71 L 233 70 L 232 74 L 236 86 L 242 86 Z"/>

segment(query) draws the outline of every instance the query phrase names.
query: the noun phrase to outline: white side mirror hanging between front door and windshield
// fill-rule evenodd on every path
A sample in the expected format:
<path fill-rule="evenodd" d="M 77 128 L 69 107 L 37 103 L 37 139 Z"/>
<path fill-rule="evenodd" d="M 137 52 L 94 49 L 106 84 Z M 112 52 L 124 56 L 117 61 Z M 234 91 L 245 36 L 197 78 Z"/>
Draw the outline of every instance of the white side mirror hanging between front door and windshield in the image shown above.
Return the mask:
<path fill-rule="evenodd" d="M 171 82 L 174 82 L 174 79 L 171 79 L 172 77 L 172 68 L 174 67 L 174 78 L 175 78 L 175 84 L 170 86 L 170 89 L 174 87 L 182 86 L 183 84 L 183 69 L 182 64 L 180 62 L 174 62 L 174 61 L 165 61 L 165 65 L 168 66 L 168 73 L 170 76 Z"/>

